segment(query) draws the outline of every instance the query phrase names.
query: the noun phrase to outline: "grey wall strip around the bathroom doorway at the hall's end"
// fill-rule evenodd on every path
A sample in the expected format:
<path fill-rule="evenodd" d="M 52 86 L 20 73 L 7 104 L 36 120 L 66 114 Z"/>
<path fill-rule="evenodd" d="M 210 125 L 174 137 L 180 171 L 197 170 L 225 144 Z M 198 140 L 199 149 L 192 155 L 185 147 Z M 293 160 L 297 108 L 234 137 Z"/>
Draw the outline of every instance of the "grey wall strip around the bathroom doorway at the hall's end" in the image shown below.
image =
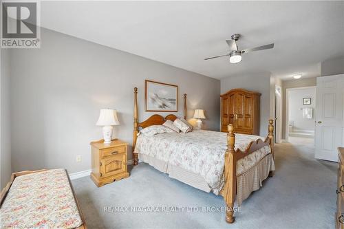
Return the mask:
<path fill-rule="evenodd" d="M 282 81 L 282 139 L 286 139 L 286 90 L 288 88 L 316 86 L 316 78 L 301 78 L 298 80 Z"/>

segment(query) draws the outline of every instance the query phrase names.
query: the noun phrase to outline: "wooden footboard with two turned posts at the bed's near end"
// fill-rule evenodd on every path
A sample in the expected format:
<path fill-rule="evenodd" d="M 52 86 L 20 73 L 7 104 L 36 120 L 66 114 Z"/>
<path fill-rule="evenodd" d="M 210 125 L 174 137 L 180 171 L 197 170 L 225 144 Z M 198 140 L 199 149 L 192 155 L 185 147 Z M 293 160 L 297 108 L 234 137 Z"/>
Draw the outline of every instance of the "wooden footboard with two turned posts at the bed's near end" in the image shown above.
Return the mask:
<path fill-rule="evenodd" d="M 257 141 L 252 141 L 248 145 L 246 151 L 243 152 L 239 149 L 235 151 L 234 127 L 233 124 L 228 124 L 227 150 L 224 159 L 224 188 L 222 188 L 222 191 L 220 193 L 224 197 L 224 201 L 226 201 L 226 221 L 228 223 L 234 222 L 233 208 L 235 196 L 237 194 L 237 161 L 267 145 L 270 145 L 273 157 L 273 120 L 269 120 L 268 131 L 268 137 L 265 141 L 261 139 Z M 272 175 L 272 173 L 270 173 L 270 175 Z"/>

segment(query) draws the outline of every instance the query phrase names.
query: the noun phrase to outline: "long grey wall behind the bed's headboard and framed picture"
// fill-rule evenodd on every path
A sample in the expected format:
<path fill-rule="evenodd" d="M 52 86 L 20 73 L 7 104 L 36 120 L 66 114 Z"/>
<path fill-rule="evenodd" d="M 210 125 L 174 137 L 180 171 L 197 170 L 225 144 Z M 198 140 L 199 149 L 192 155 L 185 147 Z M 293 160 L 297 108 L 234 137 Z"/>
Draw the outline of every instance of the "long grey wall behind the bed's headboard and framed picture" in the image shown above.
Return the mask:
<path fill-rule="evenodd" d="M 11 51 L 14 171 L 91 168 L 89 142 L 102 138 L 96 120 L 104 107 L 117 109 L 115 135 L 131 143 L 133 87 L 140 120 L 152 114 L 144 111 L 145 79 L 178 85 L 177 115 L 186 93 L 188 117 L 205 109 L 204 128 L 219 130 L 219 80 L 43 28 L 41 41 L 41 49 Z"/>

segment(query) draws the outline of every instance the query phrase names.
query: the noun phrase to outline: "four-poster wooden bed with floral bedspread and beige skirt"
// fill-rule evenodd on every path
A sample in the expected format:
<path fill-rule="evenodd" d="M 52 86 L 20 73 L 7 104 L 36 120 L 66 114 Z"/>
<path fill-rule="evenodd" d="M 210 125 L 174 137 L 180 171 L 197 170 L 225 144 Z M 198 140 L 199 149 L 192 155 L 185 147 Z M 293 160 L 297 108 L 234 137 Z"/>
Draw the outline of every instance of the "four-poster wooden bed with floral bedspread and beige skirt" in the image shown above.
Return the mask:
<path fill-rule="evenodd" d="M 222 195 L 226 202 L 226 221 L 234 222 L 234 203 L 238 205 L 261 182 L 275 171 L 273 154 L 273 121 L 269 120 L 268 136 L 235 133 L 232 124 L 228 133 L 192 131 L 144 136 L 140 129 L 174 121 L 154 114 L 138 122 L 138 89 L 134 88 L 133 160 L 147 162 L 170 177 L 206 192 Z M 184 94 L 186 120 L 186 94 Z"/>

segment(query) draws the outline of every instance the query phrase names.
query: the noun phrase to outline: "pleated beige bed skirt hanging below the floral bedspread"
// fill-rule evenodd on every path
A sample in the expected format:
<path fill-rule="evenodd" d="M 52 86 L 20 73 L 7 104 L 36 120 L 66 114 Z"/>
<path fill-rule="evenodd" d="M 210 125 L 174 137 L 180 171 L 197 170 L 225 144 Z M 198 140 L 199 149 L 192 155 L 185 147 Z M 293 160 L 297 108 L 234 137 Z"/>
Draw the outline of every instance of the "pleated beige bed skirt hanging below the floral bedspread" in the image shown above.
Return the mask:
<path fill-rule="evenodd" d="M 199 174 L 171 165 L 168 162 L 158 160 L 149 155 L 139 153 L 138 157 L 140 161 L 148 163 L 162 173 L 169 174 L 171 178 L 178 179 L 180 182 L 203 190 L 204 192 L 211 192 L 211 187 L 208 186 L 205 179 Z M 268 177 L 270 171 L 275 171 L 275 163 L 271 153 L 263 157 L 251 168 L 248 168 L 248 170 L 237 175 L 236 201 L 238 206 L 241 205 L 242 201 L 244 201 L 252 191 L 258 190 L 262 186 L 261 182 Z"/>

